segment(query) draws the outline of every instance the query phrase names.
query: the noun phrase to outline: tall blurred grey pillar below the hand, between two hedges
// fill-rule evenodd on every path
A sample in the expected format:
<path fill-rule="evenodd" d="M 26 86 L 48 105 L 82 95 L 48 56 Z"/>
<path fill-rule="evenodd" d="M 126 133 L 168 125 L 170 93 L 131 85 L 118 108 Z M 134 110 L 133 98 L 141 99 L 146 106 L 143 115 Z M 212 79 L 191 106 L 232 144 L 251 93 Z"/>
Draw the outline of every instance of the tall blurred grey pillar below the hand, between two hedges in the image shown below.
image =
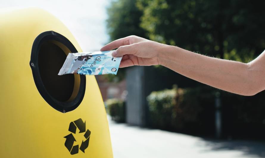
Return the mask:
<path fill-rule="evenodd" d="M 126 69 L 126 122 L 146 126 L 148 111 L 146 97 L 156 89 L 155 69 L 151 66 L 132 66 Z"/>

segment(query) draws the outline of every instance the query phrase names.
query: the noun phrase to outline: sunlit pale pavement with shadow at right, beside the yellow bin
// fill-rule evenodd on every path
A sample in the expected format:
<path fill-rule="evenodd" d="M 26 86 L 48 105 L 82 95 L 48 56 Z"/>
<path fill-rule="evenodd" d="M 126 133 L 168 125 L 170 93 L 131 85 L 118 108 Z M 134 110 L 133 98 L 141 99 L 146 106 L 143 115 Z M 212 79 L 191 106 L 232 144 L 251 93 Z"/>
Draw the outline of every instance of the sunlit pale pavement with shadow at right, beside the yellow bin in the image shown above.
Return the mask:
<path fill-rule="evenodd" d="M 260 158 L 265 142 L 216 141 L 117 124 L 109 119 L 114 158 Z"/>

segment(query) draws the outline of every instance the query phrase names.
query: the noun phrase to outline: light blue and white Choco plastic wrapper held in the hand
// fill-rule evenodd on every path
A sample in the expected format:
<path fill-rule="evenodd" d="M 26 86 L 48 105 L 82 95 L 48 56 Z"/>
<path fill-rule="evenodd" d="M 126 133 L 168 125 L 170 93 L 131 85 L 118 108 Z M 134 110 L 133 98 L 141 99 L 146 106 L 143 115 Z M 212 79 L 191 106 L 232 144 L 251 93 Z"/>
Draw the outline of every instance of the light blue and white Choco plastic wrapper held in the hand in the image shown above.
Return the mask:
<path fill-rule="evenodd" d="M 117 74 L 122 57 L 112 57 L 112 51 L 69 53 L 58 75 Z"/>

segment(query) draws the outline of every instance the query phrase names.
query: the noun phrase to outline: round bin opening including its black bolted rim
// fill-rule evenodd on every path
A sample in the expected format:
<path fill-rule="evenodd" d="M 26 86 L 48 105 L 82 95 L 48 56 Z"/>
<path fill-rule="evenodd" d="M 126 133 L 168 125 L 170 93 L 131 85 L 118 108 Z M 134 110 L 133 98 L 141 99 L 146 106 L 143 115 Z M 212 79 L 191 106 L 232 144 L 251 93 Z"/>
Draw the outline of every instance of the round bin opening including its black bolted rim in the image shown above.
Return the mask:
<path fill-rule="evenodd" d="M 63 113 L 77 108 L 85 95 L 84 75 L 58 75 L 69 52 L 77 50 L 68 39 L 47 31 L 33 42 L 30 60 L 40 95 L 50 106 Z"/>

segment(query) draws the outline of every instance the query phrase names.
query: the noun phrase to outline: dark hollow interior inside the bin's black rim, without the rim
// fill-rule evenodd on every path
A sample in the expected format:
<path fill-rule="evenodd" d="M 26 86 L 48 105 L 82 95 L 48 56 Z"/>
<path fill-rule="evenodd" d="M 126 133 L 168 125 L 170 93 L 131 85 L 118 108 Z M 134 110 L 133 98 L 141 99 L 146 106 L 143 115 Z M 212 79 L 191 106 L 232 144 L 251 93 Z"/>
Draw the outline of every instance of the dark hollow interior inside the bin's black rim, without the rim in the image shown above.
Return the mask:
<path fill-rule="evenodd" d="M 47 92 L 62 102 L 69 100 L 74 90 L 74 74 L 58 75 L 65 59 L 65 52 L 56 44 L 47 41 L 40 46 L 40 78 Z"/>

